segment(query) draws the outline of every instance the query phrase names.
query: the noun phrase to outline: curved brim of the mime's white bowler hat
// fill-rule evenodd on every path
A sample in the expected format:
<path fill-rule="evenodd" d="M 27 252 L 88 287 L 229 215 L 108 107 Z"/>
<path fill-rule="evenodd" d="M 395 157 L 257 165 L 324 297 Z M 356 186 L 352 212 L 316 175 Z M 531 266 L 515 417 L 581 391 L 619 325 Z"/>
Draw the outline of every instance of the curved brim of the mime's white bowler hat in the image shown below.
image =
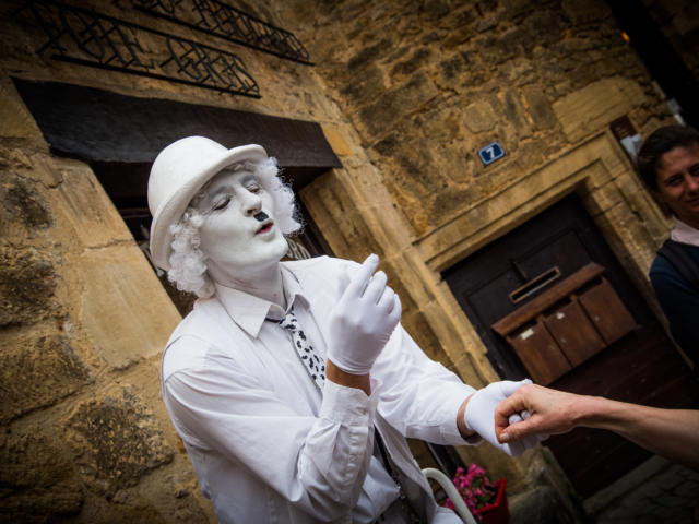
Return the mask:
<path fill-rule="evenodd" d="M 233 164 L 262 160 L 266 157 L 264 148 L 257 144 L 227 150 L 224 154 L 213 157 L 203 164 L 198 175 L 191 177 L 187 183 L 165 199 L 156 210 L 155 215 L 153 215 L 151 225 L 150 243 L 153 262 L 166 271 L 170 269 L 169 259 L 173 243 L 170 226 L 182 218 L 191 200 L 209 180 Z"/>

